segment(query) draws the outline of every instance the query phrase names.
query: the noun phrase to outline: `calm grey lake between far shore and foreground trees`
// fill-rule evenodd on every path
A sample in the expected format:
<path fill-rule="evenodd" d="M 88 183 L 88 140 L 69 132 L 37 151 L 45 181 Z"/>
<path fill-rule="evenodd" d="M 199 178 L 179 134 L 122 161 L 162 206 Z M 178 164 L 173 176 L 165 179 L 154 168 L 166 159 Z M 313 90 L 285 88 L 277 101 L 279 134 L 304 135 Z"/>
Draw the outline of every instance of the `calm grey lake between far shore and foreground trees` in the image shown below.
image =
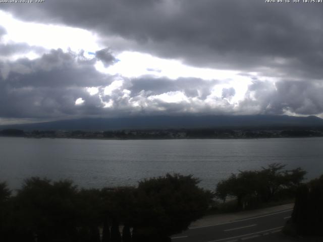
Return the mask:
<path fill-rule="evenodd" d="M 0 137 L 0 180 L 20 188 L 30 176 L 73 179 L 85 188 L 135 186 L 143 178 L 193 174 L 213 190 L 239 170 L 274 162 L 323 174 L 323 138 L 78 140 Z"/>

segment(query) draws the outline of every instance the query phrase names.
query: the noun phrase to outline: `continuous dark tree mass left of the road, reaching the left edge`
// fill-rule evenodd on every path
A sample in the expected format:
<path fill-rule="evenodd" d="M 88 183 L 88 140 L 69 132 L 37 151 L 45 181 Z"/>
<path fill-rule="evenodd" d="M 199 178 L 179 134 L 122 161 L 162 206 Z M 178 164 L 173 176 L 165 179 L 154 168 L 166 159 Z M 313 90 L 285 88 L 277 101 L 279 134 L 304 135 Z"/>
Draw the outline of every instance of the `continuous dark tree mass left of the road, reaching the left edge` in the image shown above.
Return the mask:
<path fill-rule="evenodd" d="M 11 196 L 1 183 L 0 240 L 168 241 L 207 209 L 211 193 L 197 184 L 190 175 L 167 174 L 141 181 L 138 188 L 98 190 L 78 189 L 70 180 L 31 177 Z"/>

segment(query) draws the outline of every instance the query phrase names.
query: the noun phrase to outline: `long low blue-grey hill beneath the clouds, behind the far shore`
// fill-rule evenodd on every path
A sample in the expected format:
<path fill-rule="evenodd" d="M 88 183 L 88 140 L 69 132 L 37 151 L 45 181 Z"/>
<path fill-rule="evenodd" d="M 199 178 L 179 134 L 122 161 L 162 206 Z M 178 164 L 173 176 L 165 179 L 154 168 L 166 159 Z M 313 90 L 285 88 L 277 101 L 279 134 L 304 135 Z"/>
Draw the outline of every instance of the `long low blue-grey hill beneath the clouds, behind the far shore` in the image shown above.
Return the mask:
<path fill-rule="evenodd" d="M 190 128 L 289 128 L 323 127 L 317 116 L 288 115 L 204 115 L 204 116 L 145 116 L 120 118 L 82 118 L 46 123 L 3 125 L 3 129 L 84 130 L 103 131 L 120 129 L 190 129 Z"/>

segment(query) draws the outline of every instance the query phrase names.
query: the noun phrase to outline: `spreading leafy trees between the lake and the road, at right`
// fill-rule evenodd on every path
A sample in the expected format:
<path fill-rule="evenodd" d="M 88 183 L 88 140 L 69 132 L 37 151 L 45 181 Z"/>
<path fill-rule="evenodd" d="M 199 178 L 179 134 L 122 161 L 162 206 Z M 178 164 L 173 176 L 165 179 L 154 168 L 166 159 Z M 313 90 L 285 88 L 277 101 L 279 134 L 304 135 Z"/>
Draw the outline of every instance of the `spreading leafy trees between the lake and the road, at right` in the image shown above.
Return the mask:
<path fill-rule="evenodd" d="M 237 199 L 238 208 L 254 207 L 272 201 L 277 194 L 291 193 L 303 181 L 306 171 L 301 168 L 283 170 L 286 165 L 273 163 L 261 170 L 240 171 L 220 181 L 216 197 L 224 202 L 228 197 Z"/>

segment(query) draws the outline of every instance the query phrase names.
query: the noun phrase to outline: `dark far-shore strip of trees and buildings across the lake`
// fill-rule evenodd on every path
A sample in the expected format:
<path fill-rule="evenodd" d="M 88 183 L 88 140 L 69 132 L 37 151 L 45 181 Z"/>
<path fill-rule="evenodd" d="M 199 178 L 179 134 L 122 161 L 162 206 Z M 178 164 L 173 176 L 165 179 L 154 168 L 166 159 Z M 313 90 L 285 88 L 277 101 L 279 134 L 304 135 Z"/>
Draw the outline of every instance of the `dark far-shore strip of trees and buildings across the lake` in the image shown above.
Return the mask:
<path fill-rule="evenodd" d="M 117 131 L 38 131 L 17 129 L 0 131 L 0 136 L 27 138 L 79 138 L 79 139 L 256 139 L 323 137 L 323 128 L 275 129 L 168 129 Z"/>

